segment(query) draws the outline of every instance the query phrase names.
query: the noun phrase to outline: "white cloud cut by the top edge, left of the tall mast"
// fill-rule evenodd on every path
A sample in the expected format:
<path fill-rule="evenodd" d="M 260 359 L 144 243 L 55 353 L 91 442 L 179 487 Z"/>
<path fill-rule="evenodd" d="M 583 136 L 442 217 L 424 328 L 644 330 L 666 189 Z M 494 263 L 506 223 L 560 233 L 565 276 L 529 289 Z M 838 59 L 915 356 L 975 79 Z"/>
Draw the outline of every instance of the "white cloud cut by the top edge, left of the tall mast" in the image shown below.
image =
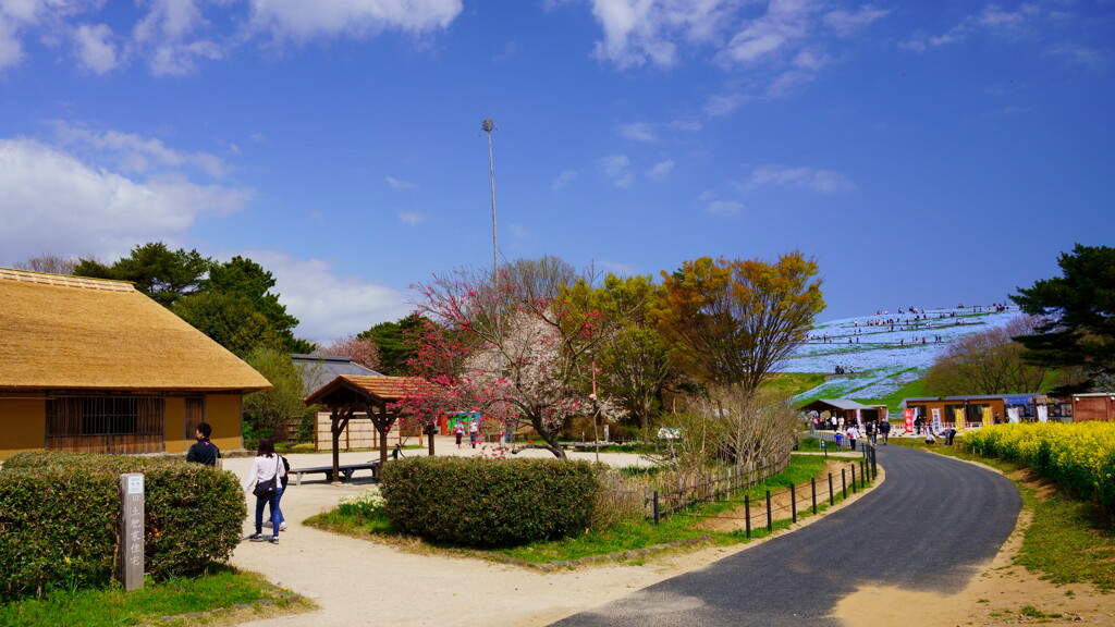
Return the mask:
<path fill-rule="evenodd" d="M 295 41 L 338 35 L 359 38 L 386 29 L 420 33 L 448 27 L 460 10 L 460 0 L 251 0 L 255 28 Z"/>

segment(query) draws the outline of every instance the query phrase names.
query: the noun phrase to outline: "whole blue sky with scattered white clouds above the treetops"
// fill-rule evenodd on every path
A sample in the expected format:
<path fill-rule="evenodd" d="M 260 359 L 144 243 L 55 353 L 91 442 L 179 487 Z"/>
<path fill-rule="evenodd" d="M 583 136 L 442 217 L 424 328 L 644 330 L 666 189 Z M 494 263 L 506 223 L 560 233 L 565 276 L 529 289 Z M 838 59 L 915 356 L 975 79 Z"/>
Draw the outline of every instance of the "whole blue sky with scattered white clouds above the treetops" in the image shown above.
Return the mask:
<path fill-rule="evenodd" d="M 999 301 L 1113 244 L 1113 0 L 0 0 L 0 266 L 248 255 L 359 332 L 491 263 L 493 118 L 503 259 Z"/>

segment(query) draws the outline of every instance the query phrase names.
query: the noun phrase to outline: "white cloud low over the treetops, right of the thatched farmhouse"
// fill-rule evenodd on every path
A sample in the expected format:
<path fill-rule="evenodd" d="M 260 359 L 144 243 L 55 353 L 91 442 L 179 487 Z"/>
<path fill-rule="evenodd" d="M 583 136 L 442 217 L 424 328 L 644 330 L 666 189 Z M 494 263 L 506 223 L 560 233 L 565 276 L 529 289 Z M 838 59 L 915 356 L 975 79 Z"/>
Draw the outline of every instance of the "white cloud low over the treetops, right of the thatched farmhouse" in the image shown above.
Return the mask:
<path fill-rule="evenodd" d="M 274 276 L 273 291 L 287 311 L 299 319 L 294 330 L 298 337 L 326 343 L 409 314 L 404 292 L 338 276 L 327 261 L 294 259 L 278 251 L 252 251 L 248 255 Z"/>

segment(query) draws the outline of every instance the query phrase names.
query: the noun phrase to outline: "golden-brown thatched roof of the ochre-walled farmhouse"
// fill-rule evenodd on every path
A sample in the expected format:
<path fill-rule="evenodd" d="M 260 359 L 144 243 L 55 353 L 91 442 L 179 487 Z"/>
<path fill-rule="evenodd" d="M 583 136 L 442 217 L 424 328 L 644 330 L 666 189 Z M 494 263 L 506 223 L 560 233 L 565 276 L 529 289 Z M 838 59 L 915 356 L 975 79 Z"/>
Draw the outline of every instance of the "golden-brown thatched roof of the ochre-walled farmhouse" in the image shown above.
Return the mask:
<path fill-rule="evenodd" d="M 130 283 L 0 268 L 0 390 L 270 387 Z"/>

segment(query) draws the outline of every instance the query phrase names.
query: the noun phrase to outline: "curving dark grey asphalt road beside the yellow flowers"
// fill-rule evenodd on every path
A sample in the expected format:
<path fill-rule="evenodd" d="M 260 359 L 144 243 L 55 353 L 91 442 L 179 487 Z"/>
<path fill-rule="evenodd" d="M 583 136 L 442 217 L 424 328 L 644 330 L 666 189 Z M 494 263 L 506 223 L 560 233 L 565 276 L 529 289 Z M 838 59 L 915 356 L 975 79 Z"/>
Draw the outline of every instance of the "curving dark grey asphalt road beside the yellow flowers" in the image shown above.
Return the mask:
<path fill-rule="evenodd" d="M 880 446 L 886 481 L 854 504 L 560 627 L 837 626 L 825 618 L 872 581 L 956 594 L 1015 528 L 1007 479 L 903 446 Z"/>

